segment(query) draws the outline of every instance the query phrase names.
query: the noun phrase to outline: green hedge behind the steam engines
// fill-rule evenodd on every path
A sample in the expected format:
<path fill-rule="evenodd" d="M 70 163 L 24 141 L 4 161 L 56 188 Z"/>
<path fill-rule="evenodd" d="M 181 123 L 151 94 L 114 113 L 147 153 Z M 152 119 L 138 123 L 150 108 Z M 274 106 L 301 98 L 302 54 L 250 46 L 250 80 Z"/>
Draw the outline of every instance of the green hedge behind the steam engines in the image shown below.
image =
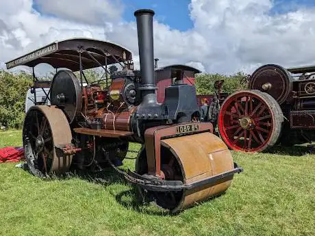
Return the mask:
<path fill-rule="evenodd" d="M 85 73 L 89 81 L 97 81 L 102 75 L 102 73 L 95 70 L 86 70 Z M 197 94 L 213 94 L 214 81 L 220 79 L 225 80 L 223 92 L 231 93 L 235 90 L 244 89 L 246 86 L 240 84 L 243 77 L 243 73 L 231 76 L 219 74 L 197 75 Z M 4 125 L 14 129 L 21 128 L 25 116 L 25 96 L 31 83 L 32 76 L 25 72 L 9 73 L 0 70 L 0 126 Z"/>

